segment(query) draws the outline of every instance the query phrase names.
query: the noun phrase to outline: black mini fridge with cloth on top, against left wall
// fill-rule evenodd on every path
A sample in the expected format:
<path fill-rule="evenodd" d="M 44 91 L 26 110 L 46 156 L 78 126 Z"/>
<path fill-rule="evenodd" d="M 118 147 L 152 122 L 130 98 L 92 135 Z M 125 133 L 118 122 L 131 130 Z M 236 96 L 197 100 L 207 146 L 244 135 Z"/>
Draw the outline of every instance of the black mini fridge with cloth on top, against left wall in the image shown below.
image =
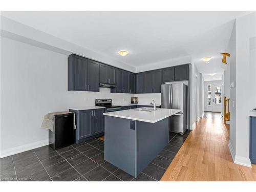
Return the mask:
<path fill-rule="evenodd" d="M 53 132 L 49 130 L 49 145 L 57 150 L 75 143 L 74 113 L 54 115 Z"/>

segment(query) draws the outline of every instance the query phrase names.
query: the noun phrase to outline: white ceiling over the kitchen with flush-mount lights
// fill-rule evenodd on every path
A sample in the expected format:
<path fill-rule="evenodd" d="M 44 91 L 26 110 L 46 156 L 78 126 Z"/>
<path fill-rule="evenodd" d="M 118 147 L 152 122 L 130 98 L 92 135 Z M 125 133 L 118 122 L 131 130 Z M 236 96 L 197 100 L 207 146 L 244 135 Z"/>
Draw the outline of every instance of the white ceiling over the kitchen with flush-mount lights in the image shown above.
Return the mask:
<path fill-rule="evenodd" d="M 201 73 L 222 72 L 234 18 L 249 12 L 1 12 L 5 17 L 127 65 L 191 56 Z M 119 50 L 130 54 L 121 57 Z M 200 59 L 212 56 L 206 65 Z"/>

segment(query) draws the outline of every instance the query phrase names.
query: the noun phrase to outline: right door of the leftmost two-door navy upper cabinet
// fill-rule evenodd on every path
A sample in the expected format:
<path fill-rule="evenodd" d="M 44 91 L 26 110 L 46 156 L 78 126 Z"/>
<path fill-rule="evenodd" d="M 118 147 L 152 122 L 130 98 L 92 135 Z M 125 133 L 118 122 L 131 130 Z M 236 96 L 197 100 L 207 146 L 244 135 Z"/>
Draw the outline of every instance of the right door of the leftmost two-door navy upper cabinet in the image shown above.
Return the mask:
<path fill-rule="evenodd" d="M 99 63 L 88 60 L 87 66 L 87 91 L 99 91 Z"/>

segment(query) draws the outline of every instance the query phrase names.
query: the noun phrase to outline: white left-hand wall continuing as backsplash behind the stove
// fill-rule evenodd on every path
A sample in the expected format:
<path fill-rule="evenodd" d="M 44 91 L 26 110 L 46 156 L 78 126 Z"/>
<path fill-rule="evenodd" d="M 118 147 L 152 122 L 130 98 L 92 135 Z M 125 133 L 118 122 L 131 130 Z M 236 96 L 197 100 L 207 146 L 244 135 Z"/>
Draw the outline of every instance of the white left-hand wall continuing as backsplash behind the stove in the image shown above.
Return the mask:
<path fill-rule="evenodd" d="M 1 37 L 1 156 L 48 144 L 45 114 L 94 105 L 95 98 L 130 103 L 133 94 L 67 91 L 67 55 Z"/>

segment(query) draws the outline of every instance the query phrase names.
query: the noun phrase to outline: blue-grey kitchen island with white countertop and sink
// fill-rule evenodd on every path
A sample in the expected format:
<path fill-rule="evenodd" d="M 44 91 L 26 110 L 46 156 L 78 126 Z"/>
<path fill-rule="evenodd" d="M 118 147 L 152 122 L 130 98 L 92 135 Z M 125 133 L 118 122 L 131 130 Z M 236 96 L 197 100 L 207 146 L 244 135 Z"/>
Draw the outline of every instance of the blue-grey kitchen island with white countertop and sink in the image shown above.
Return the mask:
<path fill-rule="evenodd" d="M 135 178 L 169 141 L 169 117 L 181 110 L 139 108 L 105 115 L 104 159 Z"/>

